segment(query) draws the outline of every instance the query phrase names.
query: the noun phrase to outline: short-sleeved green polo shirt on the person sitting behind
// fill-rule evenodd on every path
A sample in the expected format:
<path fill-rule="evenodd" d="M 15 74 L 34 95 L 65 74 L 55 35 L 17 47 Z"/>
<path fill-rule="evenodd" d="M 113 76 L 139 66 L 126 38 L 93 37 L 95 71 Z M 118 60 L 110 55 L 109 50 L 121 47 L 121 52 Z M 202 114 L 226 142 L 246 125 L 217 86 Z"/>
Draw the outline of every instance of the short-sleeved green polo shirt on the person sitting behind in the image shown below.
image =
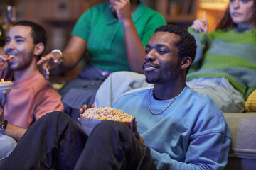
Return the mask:
<path fill-rule="evenodd" d="M 112 72 L 128 71 L 122 23 L 114 16 L 109 6 L 110 3 L 107 2 L 85 11 L 75 23 L 72 35 L 87 41 L 87 52 L 93 66 Z M 132 20 L 144 46 L 149 42 L 154 30 L 166 24 L 160 13 L 142 3 L 132 14 Z"/>

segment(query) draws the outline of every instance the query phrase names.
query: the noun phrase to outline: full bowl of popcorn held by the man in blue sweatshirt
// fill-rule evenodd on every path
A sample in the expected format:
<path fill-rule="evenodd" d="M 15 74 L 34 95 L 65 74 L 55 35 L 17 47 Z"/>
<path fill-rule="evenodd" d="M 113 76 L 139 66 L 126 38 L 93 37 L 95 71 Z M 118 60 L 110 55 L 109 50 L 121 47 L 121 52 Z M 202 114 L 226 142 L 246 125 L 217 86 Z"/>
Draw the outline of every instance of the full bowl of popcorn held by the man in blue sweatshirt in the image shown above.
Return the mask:
<path fill-rule="evenodd" d="M 133 115 L 128 115 L 122 110 L 110 107 L 88 108 L 80 114 L 80 124 L 86 135 L 90 135 L 93 128 L 104 120 L 118 121 L 130 125 Z"/>

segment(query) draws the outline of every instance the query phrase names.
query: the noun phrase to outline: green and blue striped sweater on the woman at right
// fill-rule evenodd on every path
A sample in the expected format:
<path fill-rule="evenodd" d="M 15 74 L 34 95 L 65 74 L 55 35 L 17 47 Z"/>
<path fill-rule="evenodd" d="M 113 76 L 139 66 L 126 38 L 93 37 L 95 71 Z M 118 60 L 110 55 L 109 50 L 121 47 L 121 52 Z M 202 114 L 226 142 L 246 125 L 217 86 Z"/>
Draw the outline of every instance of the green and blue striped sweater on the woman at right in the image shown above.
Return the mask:
<path fill-rule="evenodd" d="M 196 38 L 198 47 L 187 80 L 225 77 L 246 98 L 256 89 L 256 30 L 215 30 L 206 34 L 189 27 L 188 31 Z"/>

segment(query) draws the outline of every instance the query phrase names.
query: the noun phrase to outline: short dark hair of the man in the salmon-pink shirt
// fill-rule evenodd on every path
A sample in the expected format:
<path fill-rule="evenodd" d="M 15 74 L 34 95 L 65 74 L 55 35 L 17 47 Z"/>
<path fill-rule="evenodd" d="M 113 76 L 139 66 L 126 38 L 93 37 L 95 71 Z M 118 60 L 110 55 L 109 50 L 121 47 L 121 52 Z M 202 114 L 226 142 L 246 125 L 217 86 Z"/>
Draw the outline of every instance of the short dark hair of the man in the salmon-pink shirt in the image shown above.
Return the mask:
<path fill-rule="evenodd" d="M 36 45 L 41 42 L 46 47 L 46 41 L 47 41 L 46 30 L 42 26 L 40 26 L 38 23 L 23 20 L 23 21 L 17 21 L 16 23 L 14 23 L 13 26 L 31 27 L 31 37 L 33 38 L 33 44 Z"/>

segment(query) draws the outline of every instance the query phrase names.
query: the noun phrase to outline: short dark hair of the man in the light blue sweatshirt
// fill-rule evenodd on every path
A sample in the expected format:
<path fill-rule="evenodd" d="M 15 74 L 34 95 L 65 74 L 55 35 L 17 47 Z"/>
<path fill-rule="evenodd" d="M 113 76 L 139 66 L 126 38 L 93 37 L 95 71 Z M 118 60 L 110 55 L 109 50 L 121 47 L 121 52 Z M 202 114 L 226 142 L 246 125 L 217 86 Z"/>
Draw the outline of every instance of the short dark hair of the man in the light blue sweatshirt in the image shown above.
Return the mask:
<path fill-rule="evenodd" d="M 180 36 L 180 39 L 175 42 L 175 46 L 178 47 L 178 57 L 191 57 L 192 62 L 196 56 L 196 39 L 188 33 L 188 30 L 176 25 L 165 25 L 156 28 L 156 32 L 169 32 Z M 188 73 L 190 67 L 186 70 Z"/>

